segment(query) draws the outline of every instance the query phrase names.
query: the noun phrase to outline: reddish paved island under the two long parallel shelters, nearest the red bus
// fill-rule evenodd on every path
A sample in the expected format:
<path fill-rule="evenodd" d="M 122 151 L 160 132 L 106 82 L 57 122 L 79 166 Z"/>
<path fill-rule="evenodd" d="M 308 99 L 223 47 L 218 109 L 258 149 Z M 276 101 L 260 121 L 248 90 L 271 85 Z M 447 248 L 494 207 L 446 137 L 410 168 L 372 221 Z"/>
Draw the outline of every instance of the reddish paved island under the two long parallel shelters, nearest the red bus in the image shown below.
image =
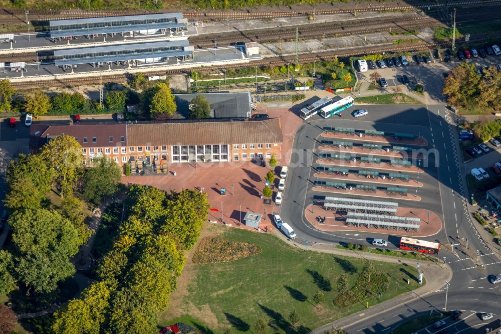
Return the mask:
<path fill-rule="evenodd" d="M 429 218 L 428 213 L 430 214 Z M 429 237 L 437 234 L 442 229 L 442 222 L 440 218 L 435 213 L 429 210 L 399 207 L 396 215 L 399 217 L 420 218 L 421 228 L 419 229 L 419 231 L 411 230 L 407 232 L 403 229 L 377 229 L 374 227 L 367 228 L 366 226 L 348 226 L 345 224 L 346 215 L 336 214 L 336 212 L 332 210 L 325 210 L 321 205 L 310 204 L 305 209 L 305 216 L 308 222 L 310 222 L 310 224 L 312 224 L 314 228 L 326 232 L 359 231 L 382 234 L 391 233 L 392 235 L 409 237 Z M 326 217 L 324 224 L 318 223 L 318 216 Z"/>

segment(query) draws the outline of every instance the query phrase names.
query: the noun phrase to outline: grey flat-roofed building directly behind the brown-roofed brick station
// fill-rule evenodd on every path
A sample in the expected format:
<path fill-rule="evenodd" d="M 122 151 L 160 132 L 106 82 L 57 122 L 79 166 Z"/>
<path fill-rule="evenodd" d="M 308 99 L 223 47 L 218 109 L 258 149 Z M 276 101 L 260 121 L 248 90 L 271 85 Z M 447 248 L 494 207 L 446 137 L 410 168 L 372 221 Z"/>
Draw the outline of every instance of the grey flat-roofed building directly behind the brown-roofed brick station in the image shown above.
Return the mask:
<path fill-rule="evenodd" d="M 250 92 L 174 94 L 177 113 L 188 118 L 190 102 L 198 95 L 204 96 L 210 103 L 211 118 L 250 117 L 250 104 L 252 103 Z"/>

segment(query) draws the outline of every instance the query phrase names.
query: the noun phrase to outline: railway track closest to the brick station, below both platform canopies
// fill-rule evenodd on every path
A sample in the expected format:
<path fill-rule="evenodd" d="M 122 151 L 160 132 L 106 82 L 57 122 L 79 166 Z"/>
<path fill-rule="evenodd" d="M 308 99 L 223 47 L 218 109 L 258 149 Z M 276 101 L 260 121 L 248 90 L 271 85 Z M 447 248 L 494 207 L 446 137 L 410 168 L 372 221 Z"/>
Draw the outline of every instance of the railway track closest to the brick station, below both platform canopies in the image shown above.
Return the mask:
<path fill-rule="evenodd" d="M 497 36 L 492 36 L 493 39 L 501 39 L 501 35 Z M 476 37 L 476 38 L 471 38 L 470 42 L 483 42 L 484 38 L 483 37 Z M 464 42 L 464 40 L 458 40 L 458 44 L 461 42 Z M 419 45 L 409 45 L 409 46 L 387 46 L 387 47 L 381 47 L 381 46 L 374 46 L 372 48 L 367 48 L 367 47 L 360 47 L 356 49 L 352 49 L 350 51 L 328 51 L 328 52 L 321 52 L 321 53 L 316 53 L 316 54 L 307 54 L 307 55 L 300 55 L 299 59 L 301 63 L 307 63 L 307 62 L 313 62 L 313 61 L 319 61 L 319 60 L 329 60 L 333 59 L 334 56 L 338 58 L 348 58 L 351 56 L 360 56 L 360 55 L 371 55 L 371 54 L 381 54 L 383 52 L 385 53 L 396 53 L 396 52 L 409 52 L 409 51 L 425 51 L 425 50 L 432 50 L 435 49 L 436 47 L 441 47 L 441 48 L 446 48 L 450 47 L 451 42 L 444 41 L 444 42 L 436 42 L 436 43 L 421 43 Z M 214 68 L 217 70 L 224 70 L 224 69 L 237 69 L 237 68 L 242 68 L 242 67 L 254 67 L 254 66 L 282 66 L 287 63 L 294 63 L 294 56 L 282 56 L 282 57 L 274 57 L 274 58 L 267 58 L 266 60 L 260 60 L 256 62 L 251 62 L 249 64 L 234 64 L 234 65 L 220 65 L 220 66 L 215 66 L 215 67 L 198 67 L 198 68 L 192 68 L 192 69 L 175 69 L 175 70 L 163 70 L 163 71 L 149 71 L 149 72 L 142 72 L 143 75 L 145 76 L 153 76 L 153 75 L 182 75 L 189 73 L 191 71 L 197 71 L 197 72 L 210 72 L 213 71 Z M 13 82 L 12 86 L 15 87 L 16 89 L 31 89 L 31 88 L 38 88 L 38 87 L 56 87 L 56 86 L 77 86 L 77 85 L 84 85 L 84 84 L 95 84 L 96 79 L 98 77 L 98 74 L 96 73 L 96 76 L 92 77 L 85 77 L 85 78 L 65 78 L 65 79 L 58 79 L 58 80 L 43 80 L 43 81 L 34 81 L 34 82 Z M 102 80 L 103 82 L 125 82 L 129 78 L 129 74 L 119 74 L 119 75 L 103 75 Z"/>

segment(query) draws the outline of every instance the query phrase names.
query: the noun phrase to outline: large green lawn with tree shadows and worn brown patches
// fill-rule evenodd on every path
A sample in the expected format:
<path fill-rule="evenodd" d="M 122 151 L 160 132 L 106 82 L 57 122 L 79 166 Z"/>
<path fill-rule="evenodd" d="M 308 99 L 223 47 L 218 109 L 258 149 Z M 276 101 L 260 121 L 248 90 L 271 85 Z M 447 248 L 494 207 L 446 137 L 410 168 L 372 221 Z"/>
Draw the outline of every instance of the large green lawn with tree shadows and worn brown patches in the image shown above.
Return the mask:
<path fill-rule="evenodd" d="M 264 318 L 274 332 L 308 332 L 365 309 L 367 301 L 369 305 L 378 302 L 377 296 L 369 296 L 342 309 L 332 303 L 340 274 L 346 272 L 353 286 L 365 264 L 363 259 L 305 252 L 270 234 L 214 225 L 205 229 L 220 233 L 219 237 L 255 244 L 263 251 L 233 262 L 203 265 L 192 264 L 188 256 L 189 269 L 183 271 L 188 277 L 181 277 L 185 283 L 179 284 L 176 291 L 176 307 L 161 315 L 161 324 L 181 318 L 198 323 L 199 328 L 210 328 L 206 330 L 209 333 L 219 333 L 229 327 L 253 332 L 256 321 Z M 381 302 L 418 287 L 414 268 L 385 262 L 375 266 L 390 280 Z M 411 279 L 410 285 L 407 278 Z M 323 291 L 325 302 L 315 305 L 312 299 L 318 289 Z M 295 328 L 288 320 L 293 309 L 300 315 Z"/>

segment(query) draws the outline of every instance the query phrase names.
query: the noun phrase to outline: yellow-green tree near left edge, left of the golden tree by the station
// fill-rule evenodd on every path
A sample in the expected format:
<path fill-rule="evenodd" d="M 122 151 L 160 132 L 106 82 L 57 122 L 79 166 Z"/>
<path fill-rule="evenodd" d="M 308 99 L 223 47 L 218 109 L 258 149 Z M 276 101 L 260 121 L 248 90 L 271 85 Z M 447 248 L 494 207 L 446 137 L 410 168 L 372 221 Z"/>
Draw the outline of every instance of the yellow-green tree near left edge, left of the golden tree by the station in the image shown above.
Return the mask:
<path fill-rule="evenodd" d="M 40 208 L 52 188 L 54 171 L 39 154 L 19 154 L 7 166 L 5 205 L 13 210 Z"/>

